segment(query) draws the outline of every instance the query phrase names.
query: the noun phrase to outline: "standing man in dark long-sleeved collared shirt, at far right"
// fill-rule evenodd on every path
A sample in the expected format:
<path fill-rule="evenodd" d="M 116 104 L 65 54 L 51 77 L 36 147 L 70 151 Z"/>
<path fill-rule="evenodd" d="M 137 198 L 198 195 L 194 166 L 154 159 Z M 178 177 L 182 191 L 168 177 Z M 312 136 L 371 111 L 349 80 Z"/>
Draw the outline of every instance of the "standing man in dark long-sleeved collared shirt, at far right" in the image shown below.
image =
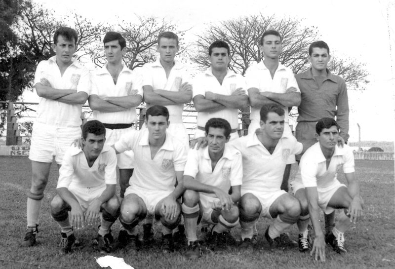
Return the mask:
<path fill-rule="evenodd" d="M 324 41 L 313 42 L 309 47 L 311 68 L 296 75 L 302 101 L 298 107 L 296 139 L 303 144 L 302 154 L 316 143 L 316 122 L 322 117 L 335 118 L 340 137 L 347 144 L 349 138 L 349 101 L 346 82 L 327 69 L 330 60 L 329 46 Z M 301 155 L 297 156 L 300 160 Z M 325 215 L 325 230 L 334 227 L 335 212 Z"/>

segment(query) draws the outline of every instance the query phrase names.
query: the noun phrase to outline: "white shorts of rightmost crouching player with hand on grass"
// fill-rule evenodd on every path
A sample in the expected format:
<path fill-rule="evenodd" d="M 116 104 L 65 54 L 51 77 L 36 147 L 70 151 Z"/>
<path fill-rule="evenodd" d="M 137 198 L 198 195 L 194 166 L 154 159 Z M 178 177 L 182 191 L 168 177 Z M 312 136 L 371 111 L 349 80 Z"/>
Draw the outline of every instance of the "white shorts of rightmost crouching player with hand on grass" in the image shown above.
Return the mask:
<path fill-rule="evenodd" d="M 305 186 L 303 185 L 302 182 L 293 180 L 289 183 L 291 187 L 291 192 L 293 195 L 299 190 L 299 189 L 304 189 Z M 325 214 L 330 214 L 332 213 L 335 209 L 332 207 L 328 206 L 328 203 L 330 199 L 332 198 L 333 194 L 337 190 L 339 190 L 340 187 L 346 187 L 346 185 L 340 183 L 337 179 L 333 181 L 333 183 L 326 188 L 317 188 L 318 192 L 318 206 L 324 211 Z"/>

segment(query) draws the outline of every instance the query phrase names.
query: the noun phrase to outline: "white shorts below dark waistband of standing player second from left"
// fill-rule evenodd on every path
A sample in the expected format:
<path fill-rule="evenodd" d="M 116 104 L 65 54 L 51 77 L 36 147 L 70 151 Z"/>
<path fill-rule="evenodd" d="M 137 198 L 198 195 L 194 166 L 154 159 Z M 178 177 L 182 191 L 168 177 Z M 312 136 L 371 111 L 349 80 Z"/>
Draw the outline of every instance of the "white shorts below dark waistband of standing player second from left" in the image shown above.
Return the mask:
<path fill-rule="evenodd" d="M 126 129 L 108 129 L 106 128 L 106 144 L 114 145 L 122 135 L 128 135 L 132 132 L 137 132 L 133 127 Z M 133 151 L 125 151 L 117 154 L 117 166 L 119 169 L 134 168 L 134 153 Z"/>

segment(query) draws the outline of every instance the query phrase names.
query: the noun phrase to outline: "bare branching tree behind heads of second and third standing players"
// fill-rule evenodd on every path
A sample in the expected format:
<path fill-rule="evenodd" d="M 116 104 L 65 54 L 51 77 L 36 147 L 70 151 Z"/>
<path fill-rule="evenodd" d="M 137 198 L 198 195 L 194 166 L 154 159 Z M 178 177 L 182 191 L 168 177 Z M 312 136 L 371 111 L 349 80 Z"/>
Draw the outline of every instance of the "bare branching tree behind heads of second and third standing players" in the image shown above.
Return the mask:
<path fill-rule="evenodd" d="M 121 20 L 118 25 L 111 28 L 119 28 L 119 32 L 126 39 L 126 53 L 123 55 L 123 61 L 131 70 L 142 67 L 145 63 L 155 61 L 157 38 L 162 32 L 172 31 L 179 36 L 181 49 L 178 55 L 182 55 L 187 49 L 182 42 L 182 37 L 187 30 L 177 31 L 177 25 L 164 19 L 158 20 L 156 17 L 137 16 L 137 23 Z M 106 59 L 103 44 L 96 44 L 96 47 L 90 50 L 90 56 L 96 66 L 104 66 Z"/>

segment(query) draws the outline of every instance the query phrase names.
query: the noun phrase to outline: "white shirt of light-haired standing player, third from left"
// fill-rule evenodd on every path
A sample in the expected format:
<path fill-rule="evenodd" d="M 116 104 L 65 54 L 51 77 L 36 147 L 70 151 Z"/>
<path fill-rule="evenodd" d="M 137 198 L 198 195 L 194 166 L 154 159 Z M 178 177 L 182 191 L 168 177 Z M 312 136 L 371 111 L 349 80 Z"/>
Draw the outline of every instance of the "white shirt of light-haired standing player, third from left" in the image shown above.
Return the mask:
<path fill-rule="evenodd" d="M 183 63 L 174 61 L 174 66 L 170 71 L 169 77 L 166 77 L 166 71 L 160 64 L 160 60 L 147 63 L 141 69 L 143 75 L 143 86 L 152 86 L 154 90 L 179 91 L 181 84 L 191 83 L 191 77 Z M 183 123 L 182 112 L 184 104 L 165 106 L 169 111 L 169 120 L 172 124 Z M 147 109 L 150 108 L 147 104 Z"/>

